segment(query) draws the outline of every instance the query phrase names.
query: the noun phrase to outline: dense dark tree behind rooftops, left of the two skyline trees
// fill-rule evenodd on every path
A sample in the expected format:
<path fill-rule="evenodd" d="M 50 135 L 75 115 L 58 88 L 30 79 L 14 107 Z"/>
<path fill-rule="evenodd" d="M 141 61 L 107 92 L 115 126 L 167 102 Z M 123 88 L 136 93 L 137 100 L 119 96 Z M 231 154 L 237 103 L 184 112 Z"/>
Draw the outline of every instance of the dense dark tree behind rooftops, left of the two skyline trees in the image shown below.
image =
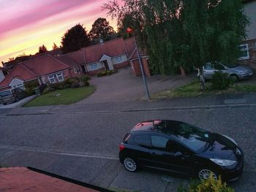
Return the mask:
<path fill-rule="evenodd" d="M 80 50 L 88 45 L 90 45 L 89 35 L 80 23 L 70 28 L 61 39 L 63 53 Z"/>

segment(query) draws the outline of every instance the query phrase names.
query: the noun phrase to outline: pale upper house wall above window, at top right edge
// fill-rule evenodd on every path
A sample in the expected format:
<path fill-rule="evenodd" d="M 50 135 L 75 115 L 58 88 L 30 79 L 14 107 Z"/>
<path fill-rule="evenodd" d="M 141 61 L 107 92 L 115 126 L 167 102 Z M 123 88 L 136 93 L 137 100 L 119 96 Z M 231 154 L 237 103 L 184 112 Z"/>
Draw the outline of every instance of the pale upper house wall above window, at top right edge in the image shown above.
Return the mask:
<path fill-rule="evenodd" d="M 246 3 L 244 9 L 251 22 L 250 25 L 246 28 L 248 35 L 247 39 L 256 39 L 256 1 Z"/>

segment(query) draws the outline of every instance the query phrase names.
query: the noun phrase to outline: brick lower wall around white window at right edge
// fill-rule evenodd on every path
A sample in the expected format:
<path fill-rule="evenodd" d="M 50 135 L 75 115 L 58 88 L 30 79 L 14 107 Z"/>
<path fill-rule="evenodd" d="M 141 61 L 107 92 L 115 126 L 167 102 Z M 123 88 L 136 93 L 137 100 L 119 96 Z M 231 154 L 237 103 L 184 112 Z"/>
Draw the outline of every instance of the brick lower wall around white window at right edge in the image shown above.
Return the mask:
<path fill-rule="evenodd" d="M 249 59 L 238 60 L 238 64 L 252 66 L 256 69 L 256 39 L 245 41 L 244 44 L 248 44 Z"/>

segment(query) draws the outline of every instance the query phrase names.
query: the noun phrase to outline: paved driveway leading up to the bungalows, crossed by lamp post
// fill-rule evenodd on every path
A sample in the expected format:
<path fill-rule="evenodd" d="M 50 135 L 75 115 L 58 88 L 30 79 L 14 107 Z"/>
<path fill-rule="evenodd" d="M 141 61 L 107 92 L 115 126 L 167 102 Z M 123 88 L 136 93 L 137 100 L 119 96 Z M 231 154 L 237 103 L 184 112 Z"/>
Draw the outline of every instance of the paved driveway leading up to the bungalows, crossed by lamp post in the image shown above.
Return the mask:
<path fill-rule="evenodd" d="M 147 77 L 148 90 L 157 93 L 176 88 L 195 79 L 194 76 L 152 76 Z M 118 73 L 106 77 L 92 77 L 91 85 L 97 91 L 78 104 L 92 104 L 118 101 L 134 101 L 146 96 L 142 77 L 135 77 L 130 67 L 118 69 Z"/>

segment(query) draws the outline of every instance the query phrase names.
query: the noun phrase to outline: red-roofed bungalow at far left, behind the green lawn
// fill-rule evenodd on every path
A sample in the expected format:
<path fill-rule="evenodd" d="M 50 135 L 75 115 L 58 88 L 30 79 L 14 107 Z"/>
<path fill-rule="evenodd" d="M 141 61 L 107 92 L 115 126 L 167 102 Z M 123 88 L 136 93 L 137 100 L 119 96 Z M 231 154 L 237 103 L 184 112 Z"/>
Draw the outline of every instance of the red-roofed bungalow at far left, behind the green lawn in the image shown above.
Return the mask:
<path fill-rule="evenodd" d="M 39 85 L 64 81 L 67 77 L 80 77 L 81 67 L 67 55 L 58 58 L 42 55 L 16 65 L 0 83 L 0 91 L 24 88 L 24 82 L 37 80 Z"/>

